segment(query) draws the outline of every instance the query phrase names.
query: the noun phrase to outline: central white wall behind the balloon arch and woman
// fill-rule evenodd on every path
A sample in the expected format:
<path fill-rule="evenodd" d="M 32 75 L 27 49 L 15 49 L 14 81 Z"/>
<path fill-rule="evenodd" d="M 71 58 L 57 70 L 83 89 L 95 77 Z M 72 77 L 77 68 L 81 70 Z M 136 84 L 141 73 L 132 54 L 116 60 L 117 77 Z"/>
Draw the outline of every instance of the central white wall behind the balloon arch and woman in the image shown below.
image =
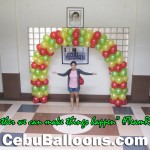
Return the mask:
<path fill-rule="evenodd" d="M 30 74 L 27 27 L 65 27 L 67 7 L 84 7 L 85 27 L 130 27 L 128 70 L 131 81 L 136 17 L 135 0 L 16 0 L 16 6 L 22 92 L 31 92 L 31 85 L 28 82 Z M 82 87 L 82 94 L 109 94 L 110 83 L 107 67 L 96 50 L 90 50 L 90 64 L 80 68 L 98 73 L 96 77 L 84 77 L 86 83 Z M 89 70 L 89 68 L 91 69 Z M 68 69 L 68 66 L 61 65 L 61 56 L 58 50 L 52 58 L 50 71 L 64 72 L 66 69 Z M 54 77 L 51 74 L 49 76 L 51 80 L 50 93 L 67 92 L 66 79 L 64 80 L 58 76 Z M 130 89 L 131 83 L 129 83 L 129 93 Z"/>

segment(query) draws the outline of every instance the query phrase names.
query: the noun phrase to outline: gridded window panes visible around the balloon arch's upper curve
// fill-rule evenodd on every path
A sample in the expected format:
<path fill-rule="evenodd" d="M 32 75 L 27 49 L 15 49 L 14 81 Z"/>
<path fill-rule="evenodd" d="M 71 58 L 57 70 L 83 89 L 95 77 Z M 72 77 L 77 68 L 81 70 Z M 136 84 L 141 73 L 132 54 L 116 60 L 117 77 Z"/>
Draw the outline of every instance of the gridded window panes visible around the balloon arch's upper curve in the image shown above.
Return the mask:
<path fill-rule="evenodd" d="M 50 27 L 29 27 L 28 28 L 28 49 L 30 64 L 32 62 L 32 56 L 36 50 L 36 45 L 42 41 L 45 34 L 50 34 L 52 31 L 61 30 L 62 28 L 50 28 Z M 102 34 L 106 34 L 108 39 L 112 39 L 118 46 L 118 50 L 122 51 L 123 57 L 127 62 L 128 48 L 129 48 L 129 28 L 128 27 L 100 27 L 100 28 L 87 28 L 88 30 L 100 31 Z"/>

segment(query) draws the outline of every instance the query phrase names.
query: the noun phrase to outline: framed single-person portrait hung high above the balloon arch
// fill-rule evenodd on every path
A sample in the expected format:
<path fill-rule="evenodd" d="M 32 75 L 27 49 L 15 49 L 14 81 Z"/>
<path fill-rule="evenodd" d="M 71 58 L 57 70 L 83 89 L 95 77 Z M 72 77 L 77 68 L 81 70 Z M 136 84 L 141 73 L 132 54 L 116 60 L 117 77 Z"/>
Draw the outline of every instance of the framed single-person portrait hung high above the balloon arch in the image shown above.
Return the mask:
<path fill-rule="evenodd" d="M 67 7 L 67 27 L 84 27 L 84 8 Z"/>

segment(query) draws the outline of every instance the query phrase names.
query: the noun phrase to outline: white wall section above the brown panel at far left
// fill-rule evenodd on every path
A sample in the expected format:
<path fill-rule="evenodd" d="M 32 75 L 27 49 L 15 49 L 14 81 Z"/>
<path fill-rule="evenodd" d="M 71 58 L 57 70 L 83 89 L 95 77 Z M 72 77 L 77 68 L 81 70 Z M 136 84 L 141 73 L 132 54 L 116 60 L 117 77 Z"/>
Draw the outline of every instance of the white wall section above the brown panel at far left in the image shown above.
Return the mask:
<path fill-rule="evenodd" d="M 0 1 L 0 55 L 2 73 L 18 73 L 15 0 Z"/>

